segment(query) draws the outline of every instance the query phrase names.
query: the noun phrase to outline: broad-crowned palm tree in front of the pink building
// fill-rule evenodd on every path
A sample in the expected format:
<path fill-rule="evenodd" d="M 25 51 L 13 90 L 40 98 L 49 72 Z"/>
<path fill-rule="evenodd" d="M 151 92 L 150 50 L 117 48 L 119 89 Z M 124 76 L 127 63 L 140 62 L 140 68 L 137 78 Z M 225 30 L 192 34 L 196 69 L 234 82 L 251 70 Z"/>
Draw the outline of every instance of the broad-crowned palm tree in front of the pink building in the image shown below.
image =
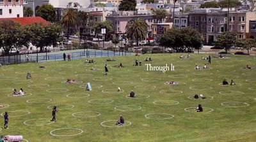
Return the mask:
<path fill-rule="evenodd" d="M 139 41 L 147 37 L 148 24 L 141 18 L 136 18 L 127 23 L 125 31 L 127 33 L 127 38 L 136 39 L 138 46 Z"/>

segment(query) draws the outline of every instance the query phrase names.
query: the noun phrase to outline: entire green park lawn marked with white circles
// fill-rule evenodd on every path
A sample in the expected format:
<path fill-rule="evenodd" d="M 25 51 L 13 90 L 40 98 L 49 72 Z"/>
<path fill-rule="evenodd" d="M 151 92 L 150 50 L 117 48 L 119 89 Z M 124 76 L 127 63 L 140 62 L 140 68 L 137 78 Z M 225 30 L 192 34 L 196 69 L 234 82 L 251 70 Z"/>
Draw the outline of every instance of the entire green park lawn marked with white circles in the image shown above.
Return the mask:
<path fill-rule="evenodd" d="M 30 142 L 255 141 L 256 70 L 243 67 L 246 64 L 256 67 L 256 58 L 243 55 L 229 55 L 230 59 L 212 58 L 209 69 L 196 70 L 196 64 L 207 63 L 201 60 L 207 55 L 192 54 L 191 59 L 179 59 L 179 55 L 116 57 L 116 62 L 106 62 L 106 58 L 102 58 L 96 59 L 95 64 L 72 60 L 2 66 L 0 103 L 10 106 L 0 108 L 1 113 L 9 111 L 9 129 L 2 129 L 0 133 L 22 135 Z M 146 66 L 132 66 L 135 59 L 143 61 L 146 57 L 153 59 L 152 66 L 173 64 L 175 71 L 163 73 L 146 71 Z M 127 67 L 112 67 L 120 62 Z M 107 76 L 104 64 L 109 67 Z M 38 67 L 41 65 L 45 68 Z M 92 67 L 100 71 L 90 71 Z M 27 71 L 31 72 L 31 80 L 26 80 Z M 67 78 L 83 83 L 61 83 Z M 228 82 L 233 79 L 237 85 L 219 85 L 224 78 Z M 164 85 L 168 81 L 180 84 Z M 84 89 L 87 82 L 92 84 L 92 91 Z M 10 96 L 12 89 L 21 87 L 27 96 Z M 117 92 L 118 87 L 124 92 Z M 137 95 L 135 99 L 126 97 L 131 90 Z M 204 94 L 207 99 L 195 100 L 195 94 Z M 57 121 L 51 123 L 51 108 L 56 104 L 59 109 Z M 202 104 L 204 112 L 194 111 L 198 104 Z M 86 112 L 78 113 L 81 111 Z M 108 121 L 118 120 L 119 115 L 124 116 L 125 127 L 116 127 L 115 121 Z M 2 117 L 1 127 L 3 122 Z M 100 125 L 102 122 L 109 127 Z M 51 131 L 54 135 L 83 132 L 61 137 L 52 136 Z"/>

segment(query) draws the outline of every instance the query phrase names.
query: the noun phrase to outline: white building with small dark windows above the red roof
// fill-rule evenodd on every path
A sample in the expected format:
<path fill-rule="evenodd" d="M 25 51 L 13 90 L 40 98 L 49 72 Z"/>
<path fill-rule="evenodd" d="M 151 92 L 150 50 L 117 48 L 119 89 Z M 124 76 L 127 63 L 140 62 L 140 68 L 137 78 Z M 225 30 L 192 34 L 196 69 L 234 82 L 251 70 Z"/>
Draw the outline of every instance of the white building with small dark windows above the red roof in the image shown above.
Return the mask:
<path fill-rule="evenodd" d="M 0 18 L 23 17 L 23 0 L 0 0 Z"/>

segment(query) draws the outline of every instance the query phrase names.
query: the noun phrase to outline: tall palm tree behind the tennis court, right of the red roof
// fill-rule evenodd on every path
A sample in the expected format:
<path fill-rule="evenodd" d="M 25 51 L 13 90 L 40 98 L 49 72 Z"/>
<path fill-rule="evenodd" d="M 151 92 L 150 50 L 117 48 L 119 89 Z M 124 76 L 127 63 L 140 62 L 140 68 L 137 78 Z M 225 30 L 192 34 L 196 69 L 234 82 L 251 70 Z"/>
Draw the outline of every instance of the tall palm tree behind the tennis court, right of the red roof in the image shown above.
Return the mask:
<path fill-rule="evenodd" d="M 64 11 L 61 22 L 67 28 L 67 39 L 69 38 L 70 27 L 74 27 L 76 25 L 77 19 L 77 14 L 71 8 L 67 8 L 67 10 Z"/>

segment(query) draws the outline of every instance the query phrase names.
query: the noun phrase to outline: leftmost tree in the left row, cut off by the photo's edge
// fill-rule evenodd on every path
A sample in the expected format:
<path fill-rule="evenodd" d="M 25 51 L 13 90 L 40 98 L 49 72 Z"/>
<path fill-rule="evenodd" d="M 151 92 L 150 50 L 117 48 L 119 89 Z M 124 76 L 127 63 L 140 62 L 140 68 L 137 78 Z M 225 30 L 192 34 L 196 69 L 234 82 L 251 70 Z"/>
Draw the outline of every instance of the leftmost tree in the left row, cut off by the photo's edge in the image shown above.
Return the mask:
<path fill-rule="evenodd" d="M 0 46 L 5 55 L 9 55 L 10 50 L 15 48 L 20 38 L 21 28 L 21 25 L 13 20 L 0 21 Z"/>

